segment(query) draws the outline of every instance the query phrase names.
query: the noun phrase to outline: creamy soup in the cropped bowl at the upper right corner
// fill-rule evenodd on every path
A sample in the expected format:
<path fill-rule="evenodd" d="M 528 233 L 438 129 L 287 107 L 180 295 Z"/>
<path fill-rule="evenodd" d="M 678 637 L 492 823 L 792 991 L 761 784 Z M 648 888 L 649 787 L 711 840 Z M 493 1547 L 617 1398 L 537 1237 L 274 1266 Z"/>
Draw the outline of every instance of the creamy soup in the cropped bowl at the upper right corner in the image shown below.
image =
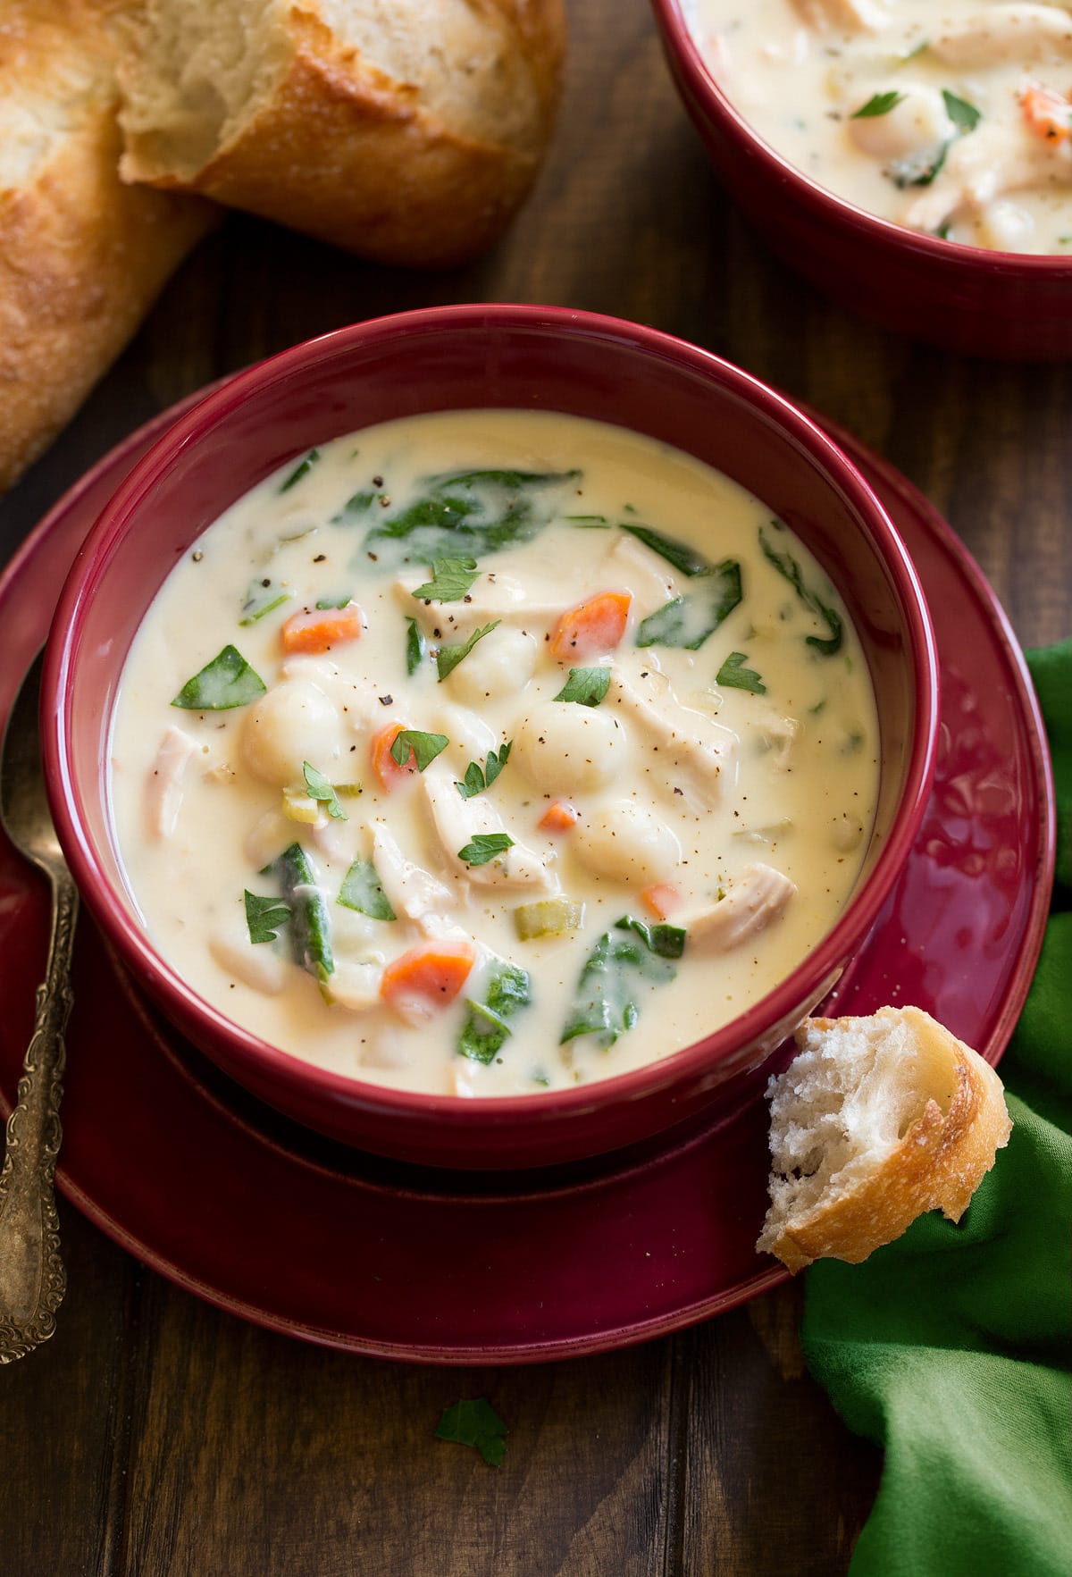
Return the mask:
<path fill-rule="evenodd" d="M 1072 0 L 684 0 L 779 153 L 913 230 L 1072 255 Z"/>

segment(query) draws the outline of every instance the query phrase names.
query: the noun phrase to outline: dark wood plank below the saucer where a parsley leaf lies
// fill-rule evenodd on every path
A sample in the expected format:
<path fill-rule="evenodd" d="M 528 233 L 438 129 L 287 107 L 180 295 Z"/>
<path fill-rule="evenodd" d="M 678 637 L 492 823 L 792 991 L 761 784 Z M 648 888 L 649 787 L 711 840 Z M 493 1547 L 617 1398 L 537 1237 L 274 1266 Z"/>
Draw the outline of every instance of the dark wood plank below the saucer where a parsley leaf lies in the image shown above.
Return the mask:
<path fill-rule="evenodd" d="M 117 1571 L 657 1569 L 667 1342 L 539 1369 L 421 1369 L 301 1347 L 158 1277 L 147 1326 Z M 501 1468 L 435 1438 L 443 1408 L 476 1396 L 509 1426 Z"/>

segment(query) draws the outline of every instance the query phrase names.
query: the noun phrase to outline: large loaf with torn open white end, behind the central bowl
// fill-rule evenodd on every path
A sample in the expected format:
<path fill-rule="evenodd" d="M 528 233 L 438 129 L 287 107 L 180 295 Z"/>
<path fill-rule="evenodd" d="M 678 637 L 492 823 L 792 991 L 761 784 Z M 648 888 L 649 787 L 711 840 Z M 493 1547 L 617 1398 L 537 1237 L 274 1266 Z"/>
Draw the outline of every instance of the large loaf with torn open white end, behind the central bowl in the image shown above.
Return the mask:
<path fill-rule="evenodd" d="M 493 241 L 547 144 L 561 0 L 147 0 L 121 173 L 363 257 Z"/>

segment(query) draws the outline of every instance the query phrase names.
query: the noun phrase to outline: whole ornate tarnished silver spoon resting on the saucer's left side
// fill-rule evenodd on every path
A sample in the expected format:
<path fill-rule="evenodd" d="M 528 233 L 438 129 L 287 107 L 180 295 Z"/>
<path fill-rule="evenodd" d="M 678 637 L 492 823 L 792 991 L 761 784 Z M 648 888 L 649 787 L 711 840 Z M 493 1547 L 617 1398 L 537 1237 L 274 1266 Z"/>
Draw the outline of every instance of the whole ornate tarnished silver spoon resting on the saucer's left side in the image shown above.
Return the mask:
<path fill-rule="evenodd" d="M 8 1148 L 0 1172 L 0 1364 L 24 1358 L 52 1336 L 66 1288 L 54 1176 L 79 894 L 44 796 L 39 694 L 41 653 L 16 695 L 0 757 L 3 830 L 52 883 L 49 964 L 44 984 L 38 986 L 33 1036 L 22 1061 L 17 1102 L 8 1118 Z"/>

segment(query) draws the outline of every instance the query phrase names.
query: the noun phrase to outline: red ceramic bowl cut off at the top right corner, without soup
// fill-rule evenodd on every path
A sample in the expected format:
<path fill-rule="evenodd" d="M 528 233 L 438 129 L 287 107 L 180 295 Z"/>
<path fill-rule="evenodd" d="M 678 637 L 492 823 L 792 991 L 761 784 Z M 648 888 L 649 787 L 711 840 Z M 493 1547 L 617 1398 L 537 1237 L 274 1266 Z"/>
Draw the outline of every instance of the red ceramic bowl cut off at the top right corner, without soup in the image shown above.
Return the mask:
<path fill-rule="evenodd" d="M 836 197 L 776 153 L 733 107 L 700 52 L 684 0 L 651 3 L 670 71 L 716 173 L 784 262 L 908 339 L 1004 360 L 1072 355 L 1072 257 L 943 241 Z"/>

